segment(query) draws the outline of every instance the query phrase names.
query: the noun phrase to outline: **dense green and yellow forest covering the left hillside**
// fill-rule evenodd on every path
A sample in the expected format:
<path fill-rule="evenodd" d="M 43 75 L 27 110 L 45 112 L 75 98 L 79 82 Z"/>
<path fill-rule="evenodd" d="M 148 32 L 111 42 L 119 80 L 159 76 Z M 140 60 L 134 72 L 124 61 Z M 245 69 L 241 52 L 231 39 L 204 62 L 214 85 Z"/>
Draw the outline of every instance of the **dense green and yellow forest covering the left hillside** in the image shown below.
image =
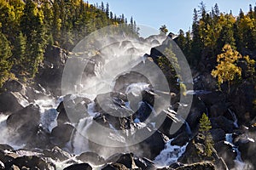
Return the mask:
<path fill-rule="evenodd" d="M 47 46 L 72 50 L 90 32 L 118 24 L 138 34 L 136 22 L 113 14 L 108 3 L 0 0 L 0 87 L 9 77 L 35 77 Z"/>

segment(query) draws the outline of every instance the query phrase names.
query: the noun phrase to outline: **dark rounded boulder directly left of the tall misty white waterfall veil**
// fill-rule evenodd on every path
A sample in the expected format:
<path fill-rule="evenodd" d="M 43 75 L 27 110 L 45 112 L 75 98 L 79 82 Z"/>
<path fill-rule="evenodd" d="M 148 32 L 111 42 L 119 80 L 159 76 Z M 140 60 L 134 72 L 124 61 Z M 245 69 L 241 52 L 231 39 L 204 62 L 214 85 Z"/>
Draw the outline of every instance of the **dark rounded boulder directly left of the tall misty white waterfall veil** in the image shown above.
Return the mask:
<path fill-rule="evenodd" d="M 70 140 L 74 129 L 70 124 L 61 124 L 60 126 L 54 127 L 50 134 L 52 143 L 60 147 L 65 146 Z"/>

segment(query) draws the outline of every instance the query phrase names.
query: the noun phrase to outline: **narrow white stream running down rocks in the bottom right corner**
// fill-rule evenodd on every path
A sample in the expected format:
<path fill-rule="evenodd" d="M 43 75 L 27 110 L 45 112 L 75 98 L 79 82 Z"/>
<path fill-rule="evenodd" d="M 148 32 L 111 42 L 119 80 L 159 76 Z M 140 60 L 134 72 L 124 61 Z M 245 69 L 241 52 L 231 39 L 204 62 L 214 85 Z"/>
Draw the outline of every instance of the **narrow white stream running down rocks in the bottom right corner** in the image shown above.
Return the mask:
<path fill-rule="evenodd" d="M 241 160 L 240 150 L 238 150 L 238 147 L 233 144 L 232 133 L 226 133 L 225 139 L 225 144 L 230 144 L 232 146 L 232 150 L 236 152 L 236 160 L 234 160 L 236 167 L 234 168 L 234 170 L 243 170 L 245 167 L 245 163 Z"/>

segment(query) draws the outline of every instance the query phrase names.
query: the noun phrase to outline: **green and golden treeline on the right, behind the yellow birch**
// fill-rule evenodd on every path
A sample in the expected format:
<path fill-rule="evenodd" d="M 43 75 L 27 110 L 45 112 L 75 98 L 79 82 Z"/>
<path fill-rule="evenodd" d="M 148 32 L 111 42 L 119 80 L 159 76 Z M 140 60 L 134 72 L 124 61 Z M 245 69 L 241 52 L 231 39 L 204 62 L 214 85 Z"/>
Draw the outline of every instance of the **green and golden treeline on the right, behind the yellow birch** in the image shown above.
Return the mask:
<path fill-rule="evenodd" d="M 217 3 L 207 11 L 201 2 L 199 9 L 194 9 L 191 31 L 180 30 L 176 42 L 190 65 L 198 65 L 203 59 L 214 66 L 225 44 L 241 54 L 253 55 L 256 52 L 256 6 L 249 5 L 247 14 L 240 10 L 235 16 L 232 11 L 221 13 Z"/>

